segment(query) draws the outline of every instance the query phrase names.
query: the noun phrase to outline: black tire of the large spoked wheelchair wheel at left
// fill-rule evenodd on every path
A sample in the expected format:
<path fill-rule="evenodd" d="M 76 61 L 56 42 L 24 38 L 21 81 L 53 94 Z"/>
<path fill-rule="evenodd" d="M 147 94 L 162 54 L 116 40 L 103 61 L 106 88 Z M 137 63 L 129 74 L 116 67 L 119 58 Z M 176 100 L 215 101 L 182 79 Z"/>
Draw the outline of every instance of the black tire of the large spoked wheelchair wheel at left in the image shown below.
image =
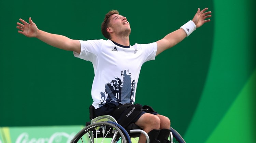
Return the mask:
<path fill-rule="evenodd" d="M 84 127 L 81 131 L 79 131 L 74 138 L 70 141 L 70 143 L 77 143 L 79 142 L 79 140 L 88 132 L 90 133 L 90 131 L 92 131 L 93 129 L 100 127 L 100 126 L 107 126 L 110 130 L 111 129 L 115 129 L 118 133 L 119 136 L 122 138 L 122 143 L 127 143 L 126 141 L 126 136 L 124 135 L 124 133 L 122 132 L 122 130 L 120 130 L 116 125 L 112 124 L 112 123 L 108 123 L 108 122 L 98 122 L 98 123 L 93 123 L 90 124 L 86 127 Z M 108 134 L 105 135 L 105 137 L 108 136 Z"/>

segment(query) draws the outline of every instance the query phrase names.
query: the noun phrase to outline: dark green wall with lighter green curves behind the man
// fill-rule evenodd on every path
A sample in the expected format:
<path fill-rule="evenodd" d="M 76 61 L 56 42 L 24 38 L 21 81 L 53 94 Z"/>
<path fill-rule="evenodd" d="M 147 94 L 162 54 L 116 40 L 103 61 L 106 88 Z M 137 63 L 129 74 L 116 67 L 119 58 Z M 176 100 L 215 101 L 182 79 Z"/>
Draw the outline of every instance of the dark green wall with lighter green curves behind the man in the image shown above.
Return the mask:
<path fill-rule="evenodd" d="M 168 116 L 187 142 L 255 142 L 253 6 L 253 0 L 1 0 L 0 126 L 80 125 L 92 103 L 92 64 L 18 34 L 19 18 L 72 39 L 104 39 L 104 15 L 117 9 L 131 24 L 133 45 L 161 39 L 208 7 L 210 23 L 143 65 L 136 103 Z"/>

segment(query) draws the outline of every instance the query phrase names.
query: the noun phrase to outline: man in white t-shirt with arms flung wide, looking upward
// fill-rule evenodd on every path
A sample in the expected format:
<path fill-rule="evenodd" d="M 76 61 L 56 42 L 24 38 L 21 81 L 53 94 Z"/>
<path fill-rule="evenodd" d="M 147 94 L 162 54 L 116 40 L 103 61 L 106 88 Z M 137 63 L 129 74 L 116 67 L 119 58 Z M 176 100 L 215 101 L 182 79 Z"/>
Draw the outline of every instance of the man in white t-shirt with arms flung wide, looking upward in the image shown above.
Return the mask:
<path fill-rule="evenodd" d="M 94 66 L 92 86 L 93 106 L 96 117 L 109 114 L 121 125 L 134 122 L 150 136 L 150 142 L 168 142 L 170 120 L 148 106 L 133 104 L 141 66 L 154 60 L 161 52 L 175 46 L 196 28 L 209 22 L 208 8 L 198 11 L 194 18 L 180 29 L 166 35 L 157 42 L 130 46 L 130 24 L 126 17 L 113 10 L 105 15 L 101 31 L 108 40 L 73 40 L 62 35 L 41 31 L 32 19 L 29 23 L 19 19 L 18 33 L 36 37 L 43 42 L 63 50 L 73 51 L 75 57 L 91 61 Z M 143 108 L 143 109 L 142 109 Z M 129 121 L 129 122 L 128 122 Z M 139 142 L 145 143 L 141 135 Z"/>

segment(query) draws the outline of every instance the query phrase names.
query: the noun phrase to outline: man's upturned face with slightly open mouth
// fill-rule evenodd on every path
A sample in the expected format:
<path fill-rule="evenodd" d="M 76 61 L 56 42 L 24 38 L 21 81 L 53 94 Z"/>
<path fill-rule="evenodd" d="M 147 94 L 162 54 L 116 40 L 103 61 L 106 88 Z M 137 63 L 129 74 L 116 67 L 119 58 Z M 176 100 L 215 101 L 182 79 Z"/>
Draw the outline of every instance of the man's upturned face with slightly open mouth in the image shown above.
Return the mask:
<path fill-rule="evenodd" d="M 127 21 L 126 17 L 113 14 L 110 17 L 110 27 L 116 34 L 129 34 L 131 33 L 130 23 Z"/>

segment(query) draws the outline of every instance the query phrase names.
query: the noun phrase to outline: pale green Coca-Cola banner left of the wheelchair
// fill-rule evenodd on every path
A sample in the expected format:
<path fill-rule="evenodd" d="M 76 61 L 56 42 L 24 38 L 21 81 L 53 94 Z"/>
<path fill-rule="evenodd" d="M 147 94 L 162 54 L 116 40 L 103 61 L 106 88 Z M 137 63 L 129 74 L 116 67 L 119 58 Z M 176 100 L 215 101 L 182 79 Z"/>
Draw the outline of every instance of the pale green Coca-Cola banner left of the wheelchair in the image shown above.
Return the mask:
<path fill-rule="evenodd" d="M 82 128 L 80 125 L 3 127 L 0 143 L 69 143 Z"/>

